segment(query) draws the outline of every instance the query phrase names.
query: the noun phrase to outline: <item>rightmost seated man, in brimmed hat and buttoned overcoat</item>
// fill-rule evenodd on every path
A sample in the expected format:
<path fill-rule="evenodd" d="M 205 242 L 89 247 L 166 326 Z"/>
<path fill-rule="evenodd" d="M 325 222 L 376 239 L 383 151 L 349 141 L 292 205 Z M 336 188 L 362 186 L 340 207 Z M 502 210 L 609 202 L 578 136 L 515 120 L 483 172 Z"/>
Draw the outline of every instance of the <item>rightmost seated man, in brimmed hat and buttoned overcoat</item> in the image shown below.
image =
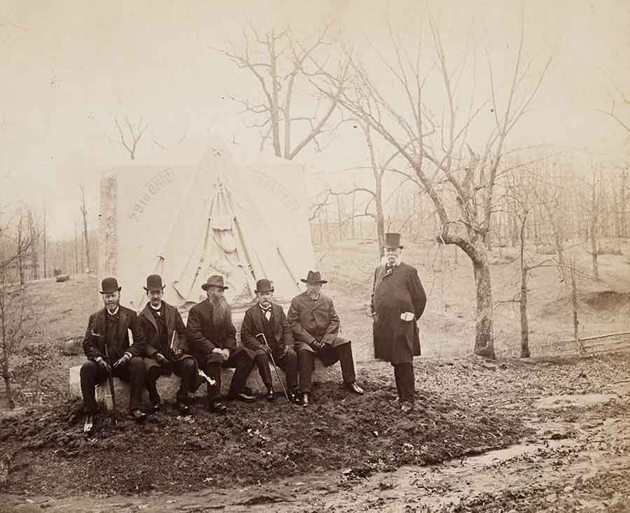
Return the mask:
<path fill-rule="evenodd" d="M 320 358 L 325 367 L 339 362 L 346 388 L 354 393 L 363 394 L 363 389 L 356 384 L 352 348 L 348 339 L 338 337 L 339 316 L 332 306 L 332 300 L 321 293 L 323 283 L 321 274 L 309 271 L 306 292 L 291 300 L 288 321 L 293 330 L 297 362 L 300 369 L 300 388 L 302 405 L 311 402 L 311 375 L 315 367 L 315 356 Z"/>

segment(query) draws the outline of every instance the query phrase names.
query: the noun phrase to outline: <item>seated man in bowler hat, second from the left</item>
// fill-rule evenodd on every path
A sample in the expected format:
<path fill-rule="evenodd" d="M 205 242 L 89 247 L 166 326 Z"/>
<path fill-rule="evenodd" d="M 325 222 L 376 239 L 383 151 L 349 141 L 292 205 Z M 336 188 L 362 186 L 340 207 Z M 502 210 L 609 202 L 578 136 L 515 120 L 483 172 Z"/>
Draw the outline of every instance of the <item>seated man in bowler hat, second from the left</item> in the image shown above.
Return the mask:
<path fill-rule="evenodd" d="M 146 389 L 153 410 L 160 408 L 158 379 L 174 372 L 180 377 L 177 391 L 177 409 L 183 415 L 190 413 L 186 404 L 188 393 L 197 390 L 197 361 L 188 354 L 186 326 L 179 311 L 162 300 L 164 295 L 162 276 L 151 274 L 146 277 L 148 303 L 140 314 L 140 322 L 146 337 L 147 358 Z"/>

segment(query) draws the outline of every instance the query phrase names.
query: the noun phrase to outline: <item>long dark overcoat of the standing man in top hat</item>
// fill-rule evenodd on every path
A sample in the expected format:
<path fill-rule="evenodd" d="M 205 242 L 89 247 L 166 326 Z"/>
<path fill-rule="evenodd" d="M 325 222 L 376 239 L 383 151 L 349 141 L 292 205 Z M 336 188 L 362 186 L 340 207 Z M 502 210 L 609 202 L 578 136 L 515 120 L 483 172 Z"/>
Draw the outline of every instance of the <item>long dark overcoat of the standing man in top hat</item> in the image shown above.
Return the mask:
<path fill-rule="evenodd" d="M 414 267 L 400 262 L 391 269 L 382 264 L 376 268 L 372 288 L 374 358 L 396 365 L 412 363 L 420 355 L 416 321 L 425 306 L 426 293 Z M 413 318 L 400 318 L 405 312 L 411 312 Z"/>

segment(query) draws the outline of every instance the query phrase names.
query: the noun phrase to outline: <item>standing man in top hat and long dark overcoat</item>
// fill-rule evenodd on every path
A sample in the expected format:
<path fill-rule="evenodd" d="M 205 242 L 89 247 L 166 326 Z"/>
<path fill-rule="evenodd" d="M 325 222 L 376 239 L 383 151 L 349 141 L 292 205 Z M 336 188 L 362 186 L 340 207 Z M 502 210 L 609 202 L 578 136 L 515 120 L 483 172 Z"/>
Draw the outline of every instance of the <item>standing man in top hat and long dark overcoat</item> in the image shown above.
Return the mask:
<path fill-rule="evenodd" d="M 420 355 L 416 321 L 426 306 L 426 294 L 411 265 L 400 260 L 399 233 L 385 234 L 384 258 L 374 271 L 372 318 L 374 357 L 393 365 L 398 401 L 403 413 L 414 407 L 414 356 Z"/>

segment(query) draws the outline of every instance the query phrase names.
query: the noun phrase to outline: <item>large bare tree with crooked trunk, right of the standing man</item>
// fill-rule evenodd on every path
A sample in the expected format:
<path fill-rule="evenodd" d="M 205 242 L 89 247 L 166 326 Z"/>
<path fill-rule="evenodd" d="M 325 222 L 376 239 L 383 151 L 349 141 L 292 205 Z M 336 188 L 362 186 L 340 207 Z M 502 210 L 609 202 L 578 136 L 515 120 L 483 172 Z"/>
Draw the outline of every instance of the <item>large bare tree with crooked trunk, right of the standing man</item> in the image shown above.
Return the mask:
<path fill-rule="evenodd" d="M 393 31 L 391 31 L 393 34 Z M 500 174 L 500 163 L 505 153 L 505 141 L 514 125 L 528 111 L 531 101 L 542 83 L 551 59 L 527 85 L 532 62 L 524 62 L 524 23 L 514 55 L 512 76 L 503 104 L 499 101 L 493 66 L 488 57 L 489 98 L 473 106 L 471 98 L 468 114 L 460 119 L 463 108 L 458 104 L 458 85 L 465 69 L 464 61 L 449 65 L 440 31 L 430 22 L 433 38 L 435 69 L 442 80 L 446 101 L 444 115 L 440 105 L 430 105 L 424 94 L 426 69 L 421 66 L 421 44 L 415 55 L 409 55 L 400 39 L 392 35 L 393 59 L 380 54 L 381 65 L 388 71 L 399 89 L 379 85 L 382 80 L 370 76 L 365 65 L 351 59 L 356 87 L 340 87 L 339 81 L 320 66 L 322 92 L 329 97 L 338 95 L 339 105 L 351 115 L 364 120 L 373 130 L 400 153 L 414 171 L 424 192 L 433 202 L 440 220 L 440 244 L 455 244 L 472 261 L 477 291 L 477 325 L 475 353 L 494 358 L 492 328 L 492 293 L 490 265 L 487 258 L 487 237 L 493 213 L 493 188 Z M 472 81 L 475 82 L 473 68 Z M 473 87 L 474 89 L 474 87 Z M 405 107 L 396 103 L 402 97 Z M 461 93 L 460 93 L 461 95 Z M 467 143 L 469 129 L 481 111 L 491 111 L 494 127 L 482 153 L 475 153 Z M 468 164 L 463 151 L 468 148 Z M 450 198 L 455 197 L 455 209 Z"/>

